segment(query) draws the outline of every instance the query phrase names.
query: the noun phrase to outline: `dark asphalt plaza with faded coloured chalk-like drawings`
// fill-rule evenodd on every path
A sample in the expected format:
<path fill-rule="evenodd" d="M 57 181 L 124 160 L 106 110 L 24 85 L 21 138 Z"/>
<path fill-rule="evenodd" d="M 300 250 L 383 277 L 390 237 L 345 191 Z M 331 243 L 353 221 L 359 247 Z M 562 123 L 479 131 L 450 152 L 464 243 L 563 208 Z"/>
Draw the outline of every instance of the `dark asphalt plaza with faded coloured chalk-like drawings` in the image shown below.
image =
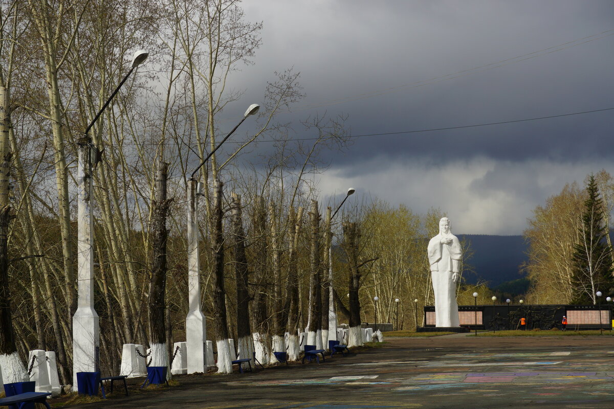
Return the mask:
<path fill-rule="evenodd" d="M 387 338 L 321 364 L 180 375 L 179 386 L 71 408 L 612 408 L 612 340 Z"/>

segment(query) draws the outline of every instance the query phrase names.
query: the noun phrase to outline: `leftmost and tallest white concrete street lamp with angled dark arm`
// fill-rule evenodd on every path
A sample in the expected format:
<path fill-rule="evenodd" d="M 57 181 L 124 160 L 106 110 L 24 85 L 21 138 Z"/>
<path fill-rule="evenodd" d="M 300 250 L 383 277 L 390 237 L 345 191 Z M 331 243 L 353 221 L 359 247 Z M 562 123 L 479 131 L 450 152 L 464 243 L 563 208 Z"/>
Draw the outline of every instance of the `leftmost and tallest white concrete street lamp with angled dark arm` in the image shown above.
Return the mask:
<path fill-rule="evenodd" d="M 90 129 L 104 112 L 111 100 L 122 88 L 130 74 L 145 62 L 149 53 L 139 50 L 134 53 L 132 66 L 115 91 L 85 129 L 79 139 L 79 161 L 77 165 L 77 311 L 72 316 L 72 389 L 77 390 L 77 372 L 98 372 L 99 324 L 94 309 L 94 250 L 91 210 L 92 159 L 99 154 L 91 142 Z M 94 164 L 95 165 L 95 164 Z"/>

